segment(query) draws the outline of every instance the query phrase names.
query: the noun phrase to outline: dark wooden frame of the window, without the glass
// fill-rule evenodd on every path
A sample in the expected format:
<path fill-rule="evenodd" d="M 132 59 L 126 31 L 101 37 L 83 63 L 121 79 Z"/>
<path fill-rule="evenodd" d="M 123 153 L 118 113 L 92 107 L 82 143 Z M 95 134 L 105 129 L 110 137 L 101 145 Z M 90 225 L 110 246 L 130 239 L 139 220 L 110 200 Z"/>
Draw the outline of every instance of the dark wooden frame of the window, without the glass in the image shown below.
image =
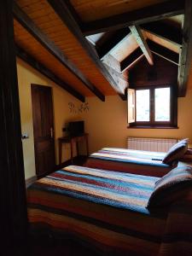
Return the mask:
<path fill-rule="evenodd" d="M 170 88 L 170 121 L 155 121 L 155 89 Z M 177 87 L 171 84 L 137 86 L 135 90 L 135 121 L 129 123 L 128 128 L 177 128 Z M 137 90 L 149 90 L 149 121 L 137 121 Z M 129 108 L 129 107 L 128 107 Z"/>

